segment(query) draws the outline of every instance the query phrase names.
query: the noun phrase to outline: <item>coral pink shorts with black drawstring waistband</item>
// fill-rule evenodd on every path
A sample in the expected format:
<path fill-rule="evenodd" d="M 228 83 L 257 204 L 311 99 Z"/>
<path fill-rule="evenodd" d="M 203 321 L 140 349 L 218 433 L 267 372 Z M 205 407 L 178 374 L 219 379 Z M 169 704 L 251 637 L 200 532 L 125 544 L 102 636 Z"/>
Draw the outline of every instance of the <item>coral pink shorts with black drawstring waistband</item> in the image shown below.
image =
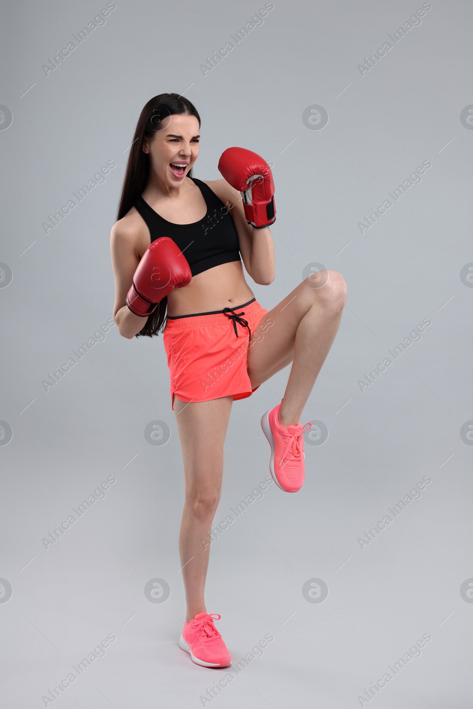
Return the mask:
<path fill-rule="evenodd" d="M 266 313 L 267 308 L 252 298 L 238 308 L 168 316 L 163 337 L 173 409 L 174 394 L 188 402 L 230 394 L 236 401 L 252 395 L 258 387 L 251 388 L 248 347 L 255 342 L 253 335 Z"/>

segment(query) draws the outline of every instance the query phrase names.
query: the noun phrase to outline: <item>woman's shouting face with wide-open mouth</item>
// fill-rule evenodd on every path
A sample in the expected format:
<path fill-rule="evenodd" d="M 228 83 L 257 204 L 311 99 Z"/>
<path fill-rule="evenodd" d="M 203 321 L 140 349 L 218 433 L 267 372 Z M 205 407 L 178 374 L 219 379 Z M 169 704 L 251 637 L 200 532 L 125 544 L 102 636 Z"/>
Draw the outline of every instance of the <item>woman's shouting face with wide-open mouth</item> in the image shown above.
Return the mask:
<path fill-rule="evenodd" d="M 150 154 L 151 168 L 165 185 L 180 187 L 199 155 L 199 121 L 185 114 L 168 116 L 145 140 L 143 152 Z"/>

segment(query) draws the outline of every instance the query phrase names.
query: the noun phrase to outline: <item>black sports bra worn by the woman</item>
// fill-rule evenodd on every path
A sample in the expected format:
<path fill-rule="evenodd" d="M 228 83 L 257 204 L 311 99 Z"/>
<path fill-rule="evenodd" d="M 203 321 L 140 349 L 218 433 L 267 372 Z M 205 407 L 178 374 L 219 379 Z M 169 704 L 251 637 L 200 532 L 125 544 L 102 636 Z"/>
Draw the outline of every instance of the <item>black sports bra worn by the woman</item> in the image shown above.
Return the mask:
<path fill-rule="evenodd" d="M 241 261 L 241 258 L 238 234 L 228 208 L 205 182 L 194 177 L 191 180 L 199 187 L 207 205 L 206 216 L 197 222 L 168 222 L 142 196 L 137 197 L 133 204 L 148 224 L 151 242 L 161 236 L 171 238 L 186 257 L 191 274 L 196 276 L 214 266 Z"/>

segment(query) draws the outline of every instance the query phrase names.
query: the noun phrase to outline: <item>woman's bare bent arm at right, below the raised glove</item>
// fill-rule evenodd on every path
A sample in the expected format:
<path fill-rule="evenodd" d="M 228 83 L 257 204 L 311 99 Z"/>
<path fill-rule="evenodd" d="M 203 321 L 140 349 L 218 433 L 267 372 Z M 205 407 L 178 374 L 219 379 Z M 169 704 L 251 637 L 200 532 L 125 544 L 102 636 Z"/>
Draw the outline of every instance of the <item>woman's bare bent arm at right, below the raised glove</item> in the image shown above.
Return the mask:
<path fill-rule="evenodd" d="M 269 226 L 255 229 L 247 223 L 240 192 L 228 184 L 225 179 L 205 180 L 204 182 L 228 207 L 233 217 L 240 241 L 240 254 L 248 274 L 255 283 L 269 286 L 274 281 L 276 274 L 274 243 Z"/>

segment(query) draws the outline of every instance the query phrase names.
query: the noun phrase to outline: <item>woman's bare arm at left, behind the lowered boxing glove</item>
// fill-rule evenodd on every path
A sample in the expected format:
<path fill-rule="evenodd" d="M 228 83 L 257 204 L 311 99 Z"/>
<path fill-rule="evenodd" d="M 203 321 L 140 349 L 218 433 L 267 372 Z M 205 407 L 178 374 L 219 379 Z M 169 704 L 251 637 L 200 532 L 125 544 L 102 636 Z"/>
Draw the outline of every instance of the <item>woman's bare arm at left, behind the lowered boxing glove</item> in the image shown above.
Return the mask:
<path fill-rule="evenodd" d="M 133 274 L 140 262 L 138 242 L 133 237 L 130 228 L 119 220 L 113 225 L 110 234 L 111 262 L 115 279 L 115 303 L 113 304 L 113 320 L 118 332 L 132 340 L 145 326 L 148 318 L 132 313 L 126 305 L 126 294 L 133 283 Z"/>

